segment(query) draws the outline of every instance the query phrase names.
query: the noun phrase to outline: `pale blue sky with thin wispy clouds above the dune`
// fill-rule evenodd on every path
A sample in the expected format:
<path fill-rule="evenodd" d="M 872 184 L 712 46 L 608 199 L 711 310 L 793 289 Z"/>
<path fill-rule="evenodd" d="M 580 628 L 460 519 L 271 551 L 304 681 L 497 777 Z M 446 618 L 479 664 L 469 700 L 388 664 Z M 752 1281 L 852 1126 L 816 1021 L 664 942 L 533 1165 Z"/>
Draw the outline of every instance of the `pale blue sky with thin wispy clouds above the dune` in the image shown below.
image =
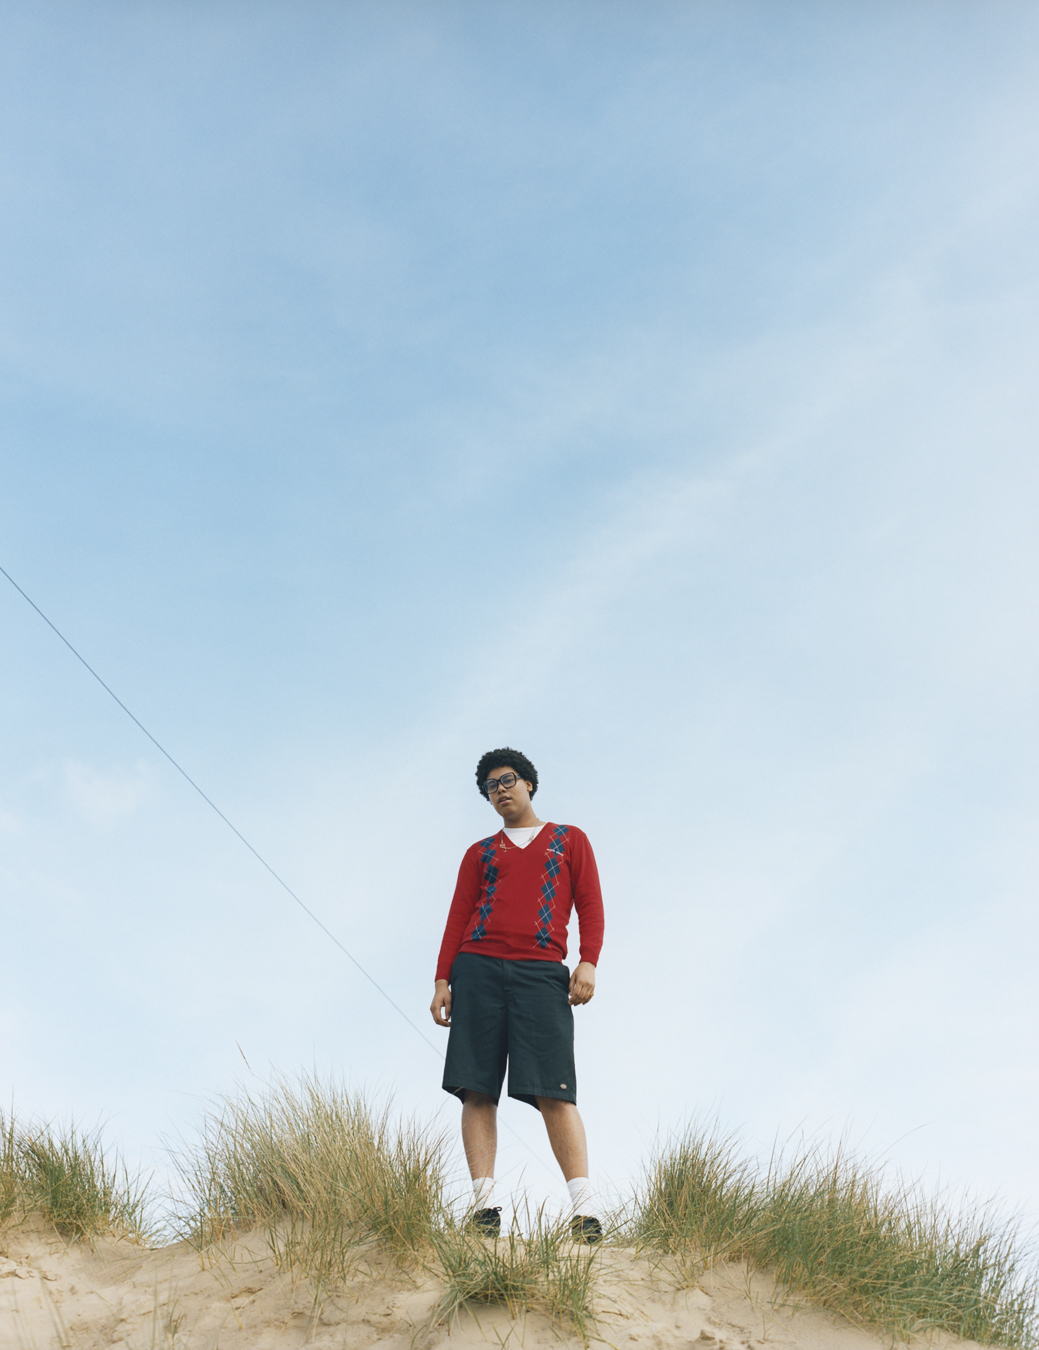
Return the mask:
<path fill-rule="evenodd" d="M 1035 8 L 0 15 L 0 563 L 420 1023 L 532 756 L 603 1177 L 710 1111 L 1039 1215 Z M 451 1119 L 0 624 L 4 1099 L 150 1161 L 240 1045 Z"/>

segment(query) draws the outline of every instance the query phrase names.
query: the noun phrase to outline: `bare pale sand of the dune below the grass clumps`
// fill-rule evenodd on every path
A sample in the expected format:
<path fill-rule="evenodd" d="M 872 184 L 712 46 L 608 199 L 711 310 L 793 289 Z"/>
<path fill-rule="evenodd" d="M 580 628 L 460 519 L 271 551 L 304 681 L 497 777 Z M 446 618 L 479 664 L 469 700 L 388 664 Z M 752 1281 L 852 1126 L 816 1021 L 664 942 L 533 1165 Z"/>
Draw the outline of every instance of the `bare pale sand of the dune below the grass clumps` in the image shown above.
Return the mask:
<path fill-rule="evenodd" d="M 314 1305 L 306 1281 L 281 1273 L 262 1239 L 237 1243 L 204 1268 L 184 1245 L 146 1250 L 127 1242 L 66 1245 L 45 1228 L 0 1237 L 0 1350 L 127 1346 L 132 1350 L 456 1350 L 555 1347 L 579 1342 L 540 1316 L 505 1308 L 463 1314 L 432 1327 L 432 1278 L 403 1285 L 359 1277 Z M 602 1253 L 598 1338 L 615 1350 L 880 1350 L 891 1342 L 814 1310 L 776 1303 L 768 1280 L 719 1268 L 676 1291 L 630 1251 Z M 973 1342 L 934 1338 L 934 1347 Z"/>

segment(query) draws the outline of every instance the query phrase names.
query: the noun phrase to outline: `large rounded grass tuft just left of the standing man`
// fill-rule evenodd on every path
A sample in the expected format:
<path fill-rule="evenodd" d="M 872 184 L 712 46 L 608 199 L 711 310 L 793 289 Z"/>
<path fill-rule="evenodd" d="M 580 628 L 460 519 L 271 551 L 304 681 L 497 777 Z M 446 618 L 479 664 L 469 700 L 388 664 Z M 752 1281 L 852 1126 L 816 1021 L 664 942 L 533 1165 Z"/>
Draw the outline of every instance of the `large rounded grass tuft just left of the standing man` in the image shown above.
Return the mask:
<path fill-rule="evenodd" d="M 444 1212 L 441 1138 L 312 1077 L 225 1102 L 181 1166 L 184 1235 L 205 1247 L 260 1228 L 318 1284 L 366 1254 L 406 1268 Z"/>

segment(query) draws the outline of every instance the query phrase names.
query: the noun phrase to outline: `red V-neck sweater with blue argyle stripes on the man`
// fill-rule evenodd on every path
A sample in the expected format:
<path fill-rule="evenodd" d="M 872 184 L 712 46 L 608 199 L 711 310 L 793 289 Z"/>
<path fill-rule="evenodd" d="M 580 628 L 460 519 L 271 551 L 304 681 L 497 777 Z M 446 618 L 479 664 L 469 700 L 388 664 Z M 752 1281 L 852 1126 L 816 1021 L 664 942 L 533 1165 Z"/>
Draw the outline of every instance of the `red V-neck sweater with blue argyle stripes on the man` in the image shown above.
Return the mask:
<path fill-rule="evenodd" d="M 451 979 L 459 952 L 506 961 L 561 961 L 571 909 L 578 911 L 580 959 L 596 965 L 602 891 L 587 834 L 549 822 L 526 848 L 517 848 L 498 830 L 467 849 L 461 860 L 436 977 Z"/>

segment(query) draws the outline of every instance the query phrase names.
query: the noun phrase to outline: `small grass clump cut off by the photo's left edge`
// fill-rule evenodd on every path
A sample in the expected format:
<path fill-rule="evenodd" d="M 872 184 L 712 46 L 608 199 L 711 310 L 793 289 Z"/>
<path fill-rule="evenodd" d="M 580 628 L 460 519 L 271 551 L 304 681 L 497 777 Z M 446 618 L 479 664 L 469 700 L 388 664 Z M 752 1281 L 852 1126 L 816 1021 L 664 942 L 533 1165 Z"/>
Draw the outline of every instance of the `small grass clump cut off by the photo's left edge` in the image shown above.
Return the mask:
<path fill-rule="evenodd" d="M 97 1134 L 0 1114 L 0 1222 L 39 1216 L 66 1237 L 147 1241 L 147 1193 Z"/>

